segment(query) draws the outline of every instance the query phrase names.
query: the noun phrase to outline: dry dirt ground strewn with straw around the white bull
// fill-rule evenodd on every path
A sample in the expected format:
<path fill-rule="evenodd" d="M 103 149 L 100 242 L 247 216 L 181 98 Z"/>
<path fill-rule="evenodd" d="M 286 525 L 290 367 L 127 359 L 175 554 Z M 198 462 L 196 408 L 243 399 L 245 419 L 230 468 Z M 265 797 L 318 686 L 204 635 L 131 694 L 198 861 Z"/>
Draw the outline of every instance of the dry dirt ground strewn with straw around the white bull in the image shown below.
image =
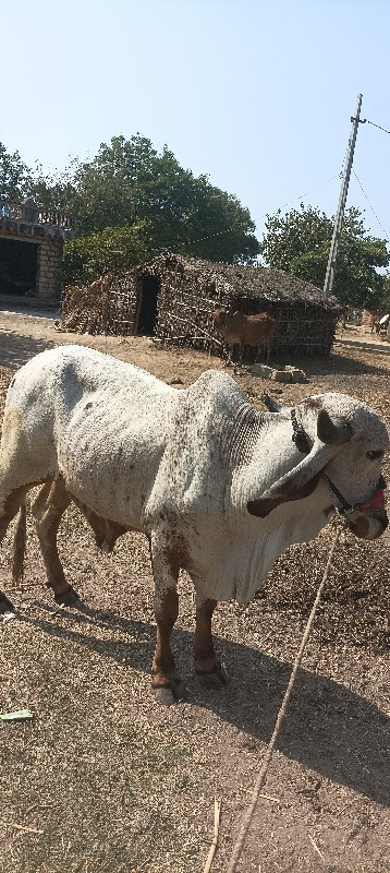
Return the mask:
<path fill-rule="evenodd" d="M 143 337 L 61 334 L 52 319 L 0 311 L 1 404 L 12 372 L 58 343 L 94 346 L 179 386 L 223 366 Z M 329 359 L 300 361 L 306 384 L 280 386 L 278 396 L 292 404 L 342 391 L 390 427 L 389 351 L 350 328 Z M 260 408 L 269 383 L 234 378 Z M 127 534 L 101 554 L 70 507 L 61 551 L 83 606 L 57 609 L 31 526 L 24 583 L 11 583 L 10 528 L 0 586 L 20 611 L 0 625 L 0 709 L 28 707 L 34 718 L 0 722 L 4 871 L 202 873 L 217 797 L 211 873 L 226 873 L 333 535 L 330 525 L 290 549 L 249 607 L 219 606 L 215 633 L 229 675 L 219 693 L 193 673 L 193 590 L 182 575 L 173 647 L 187 696 L 167 709 L 150 689 L 156 627 L 144 538 Z M 341 535 L 240 873 L 390 870 L 389 543 Z"/>

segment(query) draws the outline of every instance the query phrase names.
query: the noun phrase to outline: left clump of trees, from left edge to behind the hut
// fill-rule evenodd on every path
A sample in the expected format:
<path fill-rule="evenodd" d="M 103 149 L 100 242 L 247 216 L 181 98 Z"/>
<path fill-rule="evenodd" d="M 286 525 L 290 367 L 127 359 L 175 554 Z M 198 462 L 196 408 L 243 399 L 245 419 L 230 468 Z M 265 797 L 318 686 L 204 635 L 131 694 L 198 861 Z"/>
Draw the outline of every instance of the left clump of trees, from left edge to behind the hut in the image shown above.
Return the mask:
<path fill-rule="evenodd" d="M 129 267 L 137 251 L 147 258 L 171 249 L 231 263 L 253 263 L 259 252 L 254 222 L 237 198 L 183 169 L 168 146 L 159 154 L 138 133 L 114 136 L 92 160 L 76 158 L 52 178 L 0 144 L 0 184 L 8 199 L 34 196 L 41 206 L 72 213 L 75 240 L 65 246 L 65 265 L 69 272 L 74 264 L 74 278 L 101 260 Z M 110 240 L 122 258 L 109 256 Z"/>

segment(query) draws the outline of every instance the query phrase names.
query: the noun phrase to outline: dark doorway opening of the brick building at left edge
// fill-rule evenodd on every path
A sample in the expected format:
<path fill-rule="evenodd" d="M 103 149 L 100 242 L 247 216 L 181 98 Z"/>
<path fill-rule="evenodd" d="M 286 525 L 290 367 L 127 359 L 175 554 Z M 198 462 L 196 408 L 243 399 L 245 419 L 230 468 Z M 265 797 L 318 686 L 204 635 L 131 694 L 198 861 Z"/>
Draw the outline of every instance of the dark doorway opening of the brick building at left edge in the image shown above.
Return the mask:
<path fill-rule="evenodd" d="M 0 294 L 35 294 L 37 250 L 34 242 L 0 238 Z"/>

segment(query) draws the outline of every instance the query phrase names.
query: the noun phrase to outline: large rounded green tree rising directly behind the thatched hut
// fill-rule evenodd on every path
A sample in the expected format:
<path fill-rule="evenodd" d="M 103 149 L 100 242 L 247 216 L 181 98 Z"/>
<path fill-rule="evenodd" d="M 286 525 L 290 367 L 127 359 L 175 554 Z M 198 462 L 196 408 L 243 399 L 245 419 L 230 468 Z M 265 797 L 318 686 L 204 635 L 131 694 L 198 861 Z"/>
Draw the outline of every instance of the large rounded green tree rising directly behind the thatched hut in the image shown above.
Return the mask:
<path fill-rule="evenodd" d="M 254 223 L 236 198 L 184 170 L 167 146 L 159 155 L 139 134 L 114 136 L 75 167 L 68 207 L 78 236 L 144 222 L 150 253 L 173 249 L 248 262 L 259 251 Z"/>

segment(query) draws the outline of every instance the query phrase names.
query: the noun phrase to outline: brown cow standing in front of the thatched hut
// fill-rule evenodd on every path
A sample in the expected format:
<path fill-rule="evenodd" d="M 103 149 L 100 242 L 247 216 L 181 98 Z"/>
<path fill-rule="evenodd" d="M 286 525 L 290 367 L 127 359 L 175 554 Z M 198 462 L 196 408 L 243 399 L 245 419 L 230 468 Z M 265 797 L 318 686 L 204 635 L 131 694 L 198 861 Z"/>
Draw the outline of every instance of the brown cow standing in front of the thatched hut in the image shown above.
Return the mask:
<path fill-rule="evenodd" d="M 212 313 L 212 326 L 224 337 L 228 345 L 228 362 L 232 362 L 234 346 L 239 346 L 239 359 L 242 363 L 245 346 L 257 346 L 265 349 L 268 360 L 273 343 L 276 321 L 268 312 L 259 315 L 245 315 L 243 312 L 216 309 Z"/>

